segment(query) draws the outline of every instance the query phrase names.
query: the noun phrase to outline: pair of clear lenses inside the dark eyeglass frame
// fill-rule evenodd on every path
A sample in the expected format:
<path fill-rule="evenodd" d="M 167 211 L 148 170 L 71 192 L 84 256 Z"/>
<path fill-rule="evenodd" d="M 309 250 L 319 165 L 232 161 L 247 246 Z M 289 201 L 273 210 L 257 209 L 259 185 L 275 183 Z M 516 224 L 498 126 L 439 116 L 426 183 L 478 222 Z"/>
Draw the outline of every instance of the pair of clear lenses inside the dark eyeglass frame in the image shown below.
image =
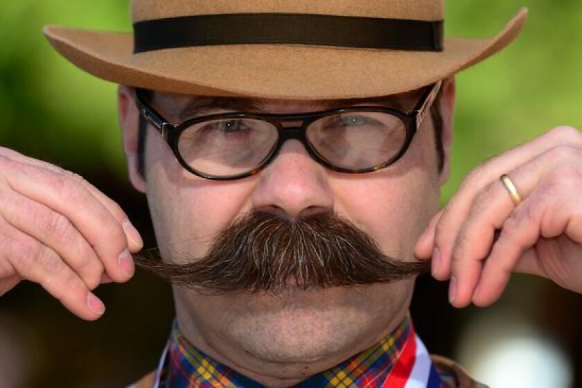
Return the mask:
<path fill-rule="evenodd" d="M 346 112 L 308 125 L 306 138 L 321 159 L 344 170 L 381 166 L 395 157 L 407 137 L 403 121 L 386 112 Z M 279 139 L 276 125 L 254 118 L 205 121 L 179 136 L 186 164 L 206 175 L 240 175 L 269 158 Z"/>

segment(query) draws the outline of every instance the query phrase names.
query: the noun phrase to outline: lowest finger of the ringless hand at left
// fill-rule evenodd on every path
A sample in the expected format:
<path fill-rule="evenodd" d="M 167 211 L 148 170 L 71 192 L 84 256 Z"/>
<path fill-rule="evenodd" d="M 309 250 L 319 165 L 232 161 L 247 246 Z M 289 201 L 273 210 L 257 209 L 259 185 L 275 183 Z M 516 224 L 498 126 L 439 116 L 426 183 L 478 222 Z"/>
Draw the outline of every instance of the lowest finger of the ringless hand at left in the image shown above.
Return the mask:
<path fill-rule="evenodd" d="M 0 218 L 0 260 L 24 279 L 39 283 L 73 314 L 98 319 L 105 306 L 53 249 Z"/>

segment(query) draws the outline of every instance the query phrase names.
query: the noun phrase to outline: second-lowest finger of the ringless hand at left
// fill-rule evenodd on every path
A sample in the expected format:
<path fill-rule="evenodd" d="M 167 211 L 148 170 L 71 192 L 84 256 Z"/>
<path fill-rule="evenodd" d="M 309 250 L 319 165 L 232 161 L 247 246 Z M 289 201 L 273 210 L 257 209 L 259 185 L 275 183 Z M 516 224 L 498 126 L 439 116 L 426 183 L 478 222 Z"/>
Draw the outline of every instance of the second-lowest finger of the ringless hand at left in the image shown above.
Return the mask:
<path fill-rule="evenodd" d="M 13 191 L 0 193 L 0 202 L 0 214 L 12 227 L 51 247 L 89 290 L 99 285 L 103 264 L 91 245 L 64 215 Z"/>

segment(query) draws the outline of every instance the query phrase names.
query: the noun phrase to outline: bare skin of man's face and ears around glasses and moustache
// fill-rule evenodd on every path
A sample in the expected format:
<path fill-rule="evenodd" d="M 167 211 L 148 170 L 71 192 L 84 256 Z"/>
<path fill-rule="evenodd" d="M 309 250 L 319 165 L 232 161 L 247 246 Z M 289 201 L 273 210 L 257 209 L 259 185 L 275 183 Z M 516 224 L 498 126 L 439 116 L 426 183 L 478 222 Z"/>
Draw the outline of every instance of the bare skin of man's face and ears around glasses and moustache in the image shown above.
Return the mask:
<path fill-rule="evenodd" d="M 443 86 L 443 141 L 448 158 L 454 82 Z M 391 96 L 386 106 L 412 109 L 418 91 Z M 174 124 L 193 96 L 156 92 L 152 106 Z M 321 101 L 257 99 L 256 112 L 293 114 L 321 109 Z M 136 172 L 137 111 L 130 89 L 120 88 L 124 145 L 134 186 L 145 191 L 161 256 L 185 264 L 204 256 L 214 236 L 245 213 L 261 211 L 290 220 L 335 213 L 402 261 L 414 261 L 414 244 L 439 204 L 448 162 L 437 166 L 430 115 L 396 164 L 366 174 L 337 173 L 290 140 L 261 173 L 211 181 L 188 173 L 157 132 L 149 129 L 145 179 Z M 226 112 L 212 109 L 208 113 Z M 299 378 L 331 367 L 393 330 L 407 313 L 414 279 L 355 288 L 282 294 L 204 295 L 174 287 L 183 333 L 206 353 L 239 371 L 271 371 Z"/>

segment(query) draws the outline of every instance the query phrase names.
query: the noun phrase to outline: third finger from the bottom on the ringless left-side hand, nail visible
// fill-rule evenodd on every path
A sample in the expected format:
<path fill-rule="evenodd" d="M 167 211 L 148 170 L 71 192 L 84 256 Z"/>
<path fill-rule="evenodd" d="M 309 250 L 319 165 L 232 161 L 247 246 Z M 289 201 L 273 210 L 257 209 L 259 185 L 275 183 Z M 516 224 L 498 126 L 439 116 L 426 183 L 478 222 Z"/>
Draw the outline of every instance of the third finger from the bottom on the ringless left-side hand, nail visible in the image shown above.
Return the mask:
<path fill-rule="evenodd" d="M 82 178 L 15 162 L 2 167 L 10 169 L 5 175 L 10 188 L 70 220 L 94 247 L 111 279 L 130 279 L 134 265 L 121 224 L 79 183 Z"/>

